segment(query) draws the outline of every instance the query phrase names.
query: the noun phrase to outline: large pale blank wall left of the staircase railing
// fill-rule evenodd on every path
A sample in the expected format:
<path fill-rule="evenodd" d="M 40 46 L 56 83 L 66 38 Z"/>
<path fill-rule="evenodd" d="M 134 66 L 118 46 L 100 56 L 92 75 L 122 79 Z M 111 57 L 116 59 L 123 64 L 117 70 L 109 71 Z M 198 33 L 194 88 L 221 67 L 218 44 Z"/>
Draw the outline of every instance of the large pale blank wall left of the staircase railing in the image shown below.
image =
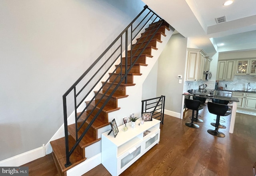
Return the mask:
<path fill-rule="evenodd" d="M 0 160 L 46 144 L 62 95 L 142 10 L 140 0 L 0 1 Z"/>

